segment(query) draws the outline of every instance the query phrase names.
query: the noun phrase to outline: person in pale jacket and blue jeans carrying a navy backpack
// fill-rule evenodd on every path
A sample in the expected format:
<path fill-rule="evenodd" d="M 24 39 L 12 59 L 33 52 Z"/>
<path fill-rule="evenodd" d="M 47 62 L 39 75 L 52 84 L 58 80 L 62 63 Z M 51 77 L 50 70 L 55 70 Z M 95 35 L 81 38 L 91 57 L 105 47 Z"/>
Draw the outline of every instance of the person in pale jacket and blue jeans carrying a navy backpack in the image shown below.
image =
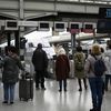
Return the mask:
<path fill-rule="evenodd" d="M 84 71 L 89 79 L 89 84 L 92 95 L 93 108 L 90 111 L 101 111 L 102 100 L 103 100 L 103 75 L 95 75 L 95 61 L 102 59 L 101 48 L 99 44 L 92 46 L 91 54 L 89 54 Z"/>

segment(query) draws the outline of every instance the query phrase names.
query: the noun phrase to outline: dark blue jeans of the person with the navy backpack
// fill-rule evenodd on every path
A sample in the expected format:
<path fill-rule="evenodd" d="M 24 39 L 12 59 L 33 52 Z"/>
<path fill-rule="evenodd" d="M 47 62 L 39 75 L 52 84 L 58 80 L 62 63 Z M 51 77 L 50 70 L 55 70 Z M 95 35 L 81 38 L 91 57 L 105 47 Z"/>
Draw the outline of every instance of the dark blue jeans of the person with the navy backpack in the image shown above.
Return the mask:
<path fill-rule="evenodd" d="M 103 79 L 101 77 L 89 78 L 89 83 L 91 88 L 93 108 L 97 108 L 99 111 L 101 111 L 103 99 Z"/>

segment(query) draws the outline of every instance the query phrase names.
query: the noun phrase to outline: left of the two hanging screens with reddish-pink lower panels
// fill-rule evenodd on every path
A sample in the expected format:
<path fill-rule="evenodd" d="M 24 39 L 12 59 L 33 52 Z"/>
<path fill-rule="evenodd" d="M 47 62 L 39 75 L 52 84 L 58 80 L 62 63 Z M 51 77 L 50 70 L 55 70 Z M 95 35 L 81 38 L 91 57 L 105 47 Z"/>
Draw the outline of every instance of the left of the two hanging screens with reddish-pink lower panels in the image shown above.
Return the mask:
<path fill-rule="evenodd" d="M 69 23 L 70 33 L 79 33 L 81 28 L 82 28 L 81 22 L 70 22 Z"/>

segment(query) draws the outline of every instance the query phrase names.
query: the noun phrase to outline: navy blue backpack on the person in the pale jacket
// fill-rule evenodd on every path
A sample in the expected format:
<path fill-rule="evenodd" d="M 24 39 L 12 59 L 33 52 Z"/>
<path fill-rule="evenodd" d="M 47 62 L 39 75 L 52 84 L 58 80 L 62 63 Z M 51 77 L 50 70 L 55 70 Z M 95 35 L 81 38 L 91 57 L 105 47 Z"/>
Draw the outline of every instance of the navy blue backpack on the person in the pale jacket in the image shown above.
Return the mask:
<path fill-rule="evenodd" d="M 94 59 L 95 59 L 95 62 L 94 62 L 94 74 L 97 77 L 101 77 L 101 75 L 103 75 L 104 71 L 107 70 L 107 67 L 104 64 L 104 61 L 103 61 L 102 57 L 100 59 L 97 59 L 94 57 Z"/>

